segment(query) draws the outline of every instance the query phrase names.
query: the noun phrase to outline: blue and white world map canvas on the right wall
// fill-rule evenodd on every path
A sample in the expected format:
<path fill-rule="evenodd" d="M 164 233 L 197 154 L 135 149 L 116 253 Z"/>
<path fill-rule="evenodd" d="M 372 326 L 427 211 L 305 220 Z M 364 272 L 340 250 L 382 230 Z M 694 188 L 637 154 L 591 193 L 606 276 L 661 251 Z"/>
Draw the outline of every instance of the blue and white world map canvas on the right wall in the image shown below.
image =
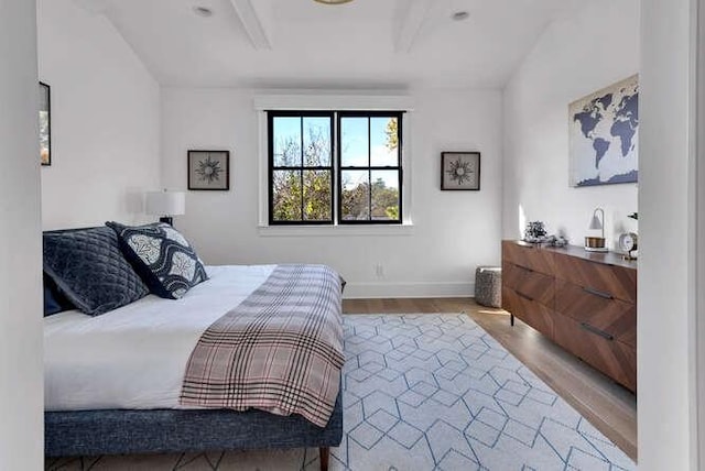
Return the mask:
<path fill-rule="evenodd" d="M 571 186 L 636 183 L 639 176 L 639 76 L 568 106 Z"/>

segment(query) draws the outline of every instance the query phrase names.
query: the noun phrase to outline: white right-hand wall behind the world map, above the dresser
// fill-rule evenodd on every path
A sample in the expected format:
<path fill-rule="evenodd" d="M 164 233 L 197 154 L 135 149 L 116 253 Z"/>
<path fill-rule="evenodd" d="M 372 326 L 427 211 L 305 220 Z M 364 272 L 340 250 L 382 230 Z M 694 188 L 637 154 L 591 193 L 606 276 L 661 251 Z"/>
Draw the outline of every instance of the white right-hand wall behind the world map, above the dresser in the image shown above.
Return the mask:
<path fill-rule="evenodd" d="M 568 103 L 639 72 L 639 0 L 595 0 L 552 23 L 505 90 L 502 234 L 521 238 L 523 222 L 581 245 L 605 209 L 607 245 L 637 223 L 637 185 L 568 186 Z"/>

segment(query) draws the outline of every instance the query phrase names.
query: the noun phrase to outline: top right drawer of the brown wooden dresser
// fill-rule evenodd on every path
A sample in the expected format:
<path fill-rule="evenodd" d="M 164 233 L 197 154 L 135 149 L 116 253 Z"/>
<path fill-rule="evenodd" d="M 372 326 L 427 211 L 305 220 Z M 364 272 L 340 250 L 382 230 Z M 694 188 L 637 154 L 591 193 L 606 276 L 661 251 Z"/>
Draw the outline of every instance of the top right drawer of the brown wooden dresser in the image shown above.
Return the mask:
<path fill-rule="evenodd" d="M 574 283 L 597 296 L 637 303 L 637 271 L 555 254 L 555 276 Z"/>

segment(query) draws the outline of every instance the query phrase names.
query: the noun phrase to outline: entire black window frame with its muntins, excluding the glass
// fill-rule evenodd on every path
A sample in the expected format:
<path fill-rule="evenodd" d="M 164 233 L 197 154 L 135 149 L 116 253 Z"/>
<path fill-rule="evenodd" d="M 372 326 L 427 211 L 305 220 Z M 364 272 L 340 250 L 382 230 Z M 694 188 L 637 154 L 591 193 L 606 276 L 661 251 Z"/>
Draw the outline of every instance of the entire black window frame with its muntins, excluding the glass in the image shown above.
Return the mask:
<path fill-rule="evenodd" d="M 267 141 L 268 141 L 268 219 L 270 226 L 394 226 L 403 223 L 403 114 L 404 111 L 365 111 L 365 110 L 265 110 L 267 112 Z M 330 119 L 330 165 L 329 166 L 306 166 L 303 161 L 303 119 L 304 118 L 329 118 Z M 367 166 L 343 166 L 341 162 L 341 133 L 340 121 L 343 118 L 368 118 L 368 165 Z M 299 166 L 275 166 L 274 165 L 274 133 L 273 124 L 275 118 L 301 118 L 302 122 L 302 160 Z M 371 165 L 370 150 L 370 118 L 395 118 L 397 119 L 397 165 L 395 166 L 373 166 Z M 274 172 L 275 171 L 299 171 L 303 178 L 303 172 L 311 171 L 328 171 L 330 172 L 330 220 L 305 220 L 304 201 L 302 198 L 302 219 L 301 220 L 275 220 L 274 219 Z M 369 173 L 369 219 L 343 219 L 343 172 L 344 171 L 367 171 Z M 371 173 L 375 171 L 398 171 L 399 174 L 399 219 L 372 219 L 371 211 L 371 191 L 372 180 Z M 303 182 L 302 182 L 303 183 Z M 302 184 L 303 188 L 303 184 Z"/>

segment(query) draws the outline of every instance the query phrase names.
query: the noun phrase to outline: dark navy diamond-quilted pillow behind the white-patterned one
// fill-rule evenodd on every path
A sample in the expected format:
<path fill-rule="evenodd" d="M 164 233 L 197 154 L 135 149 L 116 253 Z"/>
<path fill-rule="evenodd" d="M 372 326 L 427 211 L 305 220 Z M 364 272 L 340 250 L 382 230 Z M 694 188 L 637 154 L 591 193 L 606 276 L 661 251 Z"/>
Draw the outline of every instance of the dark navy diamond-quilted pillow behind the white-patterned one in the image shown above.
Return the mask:
<path fill-rule="evenodd" d="M 98 316 L 149 294 L 108 228 L 44 232 L 44 273 L 83 313 Z"/>

